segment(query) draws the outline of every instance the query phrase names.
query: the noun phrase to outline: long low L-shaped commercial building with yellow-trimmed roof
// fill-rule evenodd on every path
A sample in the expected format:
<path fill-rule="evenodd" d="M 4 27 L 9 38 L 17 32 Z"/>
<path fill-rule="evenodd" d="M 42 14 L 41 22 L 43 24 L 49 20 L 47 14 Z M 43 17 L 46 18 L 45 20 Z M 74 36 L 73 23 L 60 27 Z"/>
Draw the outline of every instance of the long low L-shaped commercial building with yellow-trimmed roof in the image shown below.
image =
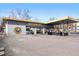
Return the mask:
<path fill-rule="evenodd" d="M 36 34 L 41 29 L 45 34 L 46 29 L 62 29 L 68 32 L 79 32 L 79 20 L 66 16 L 64 18 L 55 19 L 49 22 L 36 22 L 32 20 L 18 20 L 13 18 L 3 18 L 6 34 L 17 34 L 15 30 L 20 30 L 19 34 L 26 34 L 26 29 L 30 28 Z"/>

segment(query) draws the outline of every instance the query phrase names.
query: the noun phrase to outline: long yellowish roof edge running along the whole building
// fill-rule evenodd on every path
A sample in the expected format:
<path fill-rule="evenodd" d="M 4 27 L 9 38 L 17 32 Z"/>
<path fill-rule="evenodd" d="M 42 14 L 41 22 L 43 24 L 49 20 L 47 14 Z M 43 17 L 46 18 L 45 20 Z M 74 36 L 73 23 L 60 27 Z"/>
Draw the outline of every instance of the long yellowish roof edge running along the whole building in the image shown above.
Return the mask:
<path fill-rule="evenodd" d="M 63 18 L 58 18 L 58 19 L 54 19 L 54 20 L 51 20 L 51 21 L 48 21 L 48 22 L 37 22 L 37 21 L 32 21 L 32 20 L 22 20 L 22 19 L 15 19 L 15 18 L 3 18 L 3 20 L 12 20 L 12 21 L 19 21 L 19 22 L 32 22 L 32 23 L 41 23 L 41 24 L 49 24 L 49 23 L 55 23 L 55 22 L 59 22 L 59 21 L 62 21 L 62 20 L 72 20 L 72 21 L 79 21 L 79 19 L 75 19 L 75 18 L 72 18 L 72 17 L 69 17 L 69 16 L 66 16 L 66 17 L 63 17 Z"/>

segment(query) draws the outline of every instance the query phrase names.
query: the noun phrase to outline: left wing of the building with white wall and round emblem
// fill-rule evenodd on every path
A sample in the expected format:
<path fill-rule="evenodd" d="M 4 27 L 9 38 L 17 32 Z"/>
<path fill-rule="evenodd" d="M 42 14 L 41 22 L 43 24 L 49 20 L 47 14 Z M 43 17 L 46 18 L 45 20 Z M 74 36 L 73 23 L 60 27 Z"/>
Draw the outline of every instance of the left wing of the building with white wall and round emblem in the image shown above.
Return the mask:
<path fill-rule="evenodd" d="M 44 30 L 43 23 L 34 22 L 29 20 L 17 20 L 11 18 L 3 18 L 3 24 L 5 24 L 6 34 L 27 34 L 27 29 L 32 30 L 34 34 L 37 34 L 37 30 Z M 43 31 L 44 34 L 44 31 Z"/>

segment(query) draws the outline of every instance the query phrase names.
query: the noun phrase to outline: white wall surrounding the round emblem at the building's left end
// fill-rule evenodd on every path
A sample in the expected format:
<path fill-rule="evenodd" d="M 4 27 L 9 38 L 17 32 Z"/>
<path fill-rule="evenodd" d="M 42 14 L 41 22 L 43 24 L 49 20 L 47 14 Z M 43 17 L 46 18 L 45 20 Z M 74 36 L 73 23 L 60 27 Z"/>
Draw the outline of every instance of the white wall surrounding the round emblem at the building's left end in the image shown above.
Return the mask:
<path fill-rule="evenodd" d="M 8 24 L 7 25 L 7 28 L 6 28 L 6 31 L 7 31 L 7 34 L 12 34 L 12 35 L 19 35 L 19 34 L 16 34 L 14 29 L 16 27 L 20 27 L 21 28 L 21 33 L 20 34 L 26 34 L 26 26 L 25 25 L 13 25 L 13 24 Z"/>

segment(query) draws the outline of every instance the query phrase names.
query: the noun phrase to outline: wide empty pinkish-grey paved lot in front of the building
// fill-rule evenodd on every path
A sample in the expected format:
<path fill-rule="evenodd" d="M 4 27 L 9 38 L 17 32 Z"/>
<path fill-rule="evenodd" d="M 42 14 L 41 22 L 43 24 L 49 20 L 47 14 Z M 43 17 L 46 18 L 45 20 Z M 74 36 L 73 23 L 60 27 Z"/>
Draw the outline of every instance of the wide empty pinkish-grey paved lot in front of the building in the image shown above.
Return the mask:
<path fill-rule="evenodd" d="M 3 42 L 9 56 L 79 56 L 79 34 L 9 35 Z"/>

